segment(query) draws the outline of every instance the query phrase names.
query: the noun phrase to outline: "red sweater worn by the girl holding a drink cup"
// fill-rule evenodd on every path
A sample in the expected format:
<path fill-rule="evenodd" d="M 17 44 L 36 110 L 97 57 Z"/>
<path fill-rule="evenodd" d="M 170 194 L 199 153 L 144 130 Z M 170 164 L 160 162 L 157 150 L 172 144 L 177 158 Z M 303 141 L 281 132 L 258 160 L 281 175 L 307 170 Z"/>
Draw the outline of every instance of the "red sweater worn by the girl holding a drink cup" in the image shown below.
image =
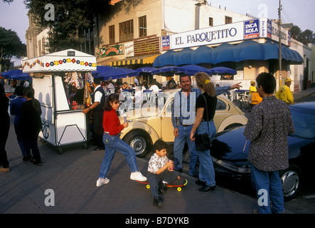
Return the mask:
<path fill-rule="evenodd" d="M 110 135 L 117 135 L 124 129 L 124 125 L 120 124 L 118 115 L 114 109 L 104 111 L 103 128 L 104 132 L 110 133 Z"/>

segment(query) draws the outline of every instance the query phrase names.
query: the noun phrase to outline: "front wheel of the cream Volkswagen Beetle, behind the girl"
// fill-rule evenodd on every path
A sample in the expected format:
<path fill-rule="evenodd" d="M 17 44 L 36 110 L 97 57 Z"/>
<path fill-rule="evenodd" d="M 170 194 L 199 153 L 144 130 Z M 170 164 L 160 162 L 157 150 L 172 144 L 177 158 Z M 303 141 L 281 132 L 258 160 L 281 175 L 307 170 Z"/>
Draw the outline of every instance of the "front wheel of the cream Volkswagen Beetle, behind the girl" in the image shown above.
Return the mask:
<path fill-rule="evenodd" d="M 134 149 L 137 157 L 144 157 L 149 150 L 148 136 L 140 131 L 132 131 L 126 135 L 124 142 Z"/>

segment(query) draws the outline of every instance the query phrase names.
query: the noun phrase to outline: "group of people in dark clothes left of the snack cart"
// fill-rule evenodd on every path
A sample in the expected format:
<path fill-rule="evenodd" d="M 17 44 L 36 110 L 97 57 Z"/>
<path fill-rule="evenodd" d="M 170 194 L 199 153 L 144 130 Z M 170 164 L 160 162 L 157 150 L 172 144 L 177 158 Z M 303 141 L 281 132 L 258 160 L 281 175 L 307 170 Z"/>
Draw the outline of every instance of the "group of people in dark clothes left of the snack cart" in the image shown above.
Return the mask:
<path fill-rule="evenodd" d="M 22 86 L 26 85 L 26 87 Z M 1 106 L 1 145 L 0 145 L 0 172 L 9 172 L 10 166 L 6 155 L 6 140 L 9 135 L 10 118 L 14 115 L 14 130 L 16 139 L 21 149 L 23 161 L 30 161 L 33 165 L 42 165 L 41 154 L 38 150 L 38 134 L 41 131 L 41 104 L 34 98 L 34 89 L 32 86 L 27 86 L 24 81 L 17 85 L 11 84 L 14 87 L 16 98 L 9 102 L 6 97 L 4 85 L 0 83 L 0 106 Z M 10 104 L 10 105 L 9 105 Z"/>

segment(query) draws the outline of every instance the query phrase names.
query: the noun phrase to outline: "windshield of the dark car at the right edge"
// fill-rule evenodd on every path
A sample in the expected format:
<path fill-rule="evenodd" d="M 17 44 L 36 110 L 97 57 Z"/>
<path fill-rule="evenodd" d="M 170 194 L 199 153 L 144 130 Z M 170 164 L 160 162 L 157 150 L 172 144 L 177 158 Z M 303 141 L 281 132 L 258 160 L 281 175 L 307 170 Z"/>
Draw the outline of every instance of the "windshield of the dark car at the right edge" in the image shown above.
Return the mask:
<path fill-rule="evenodd" d="M 315 139 L 315 113 L 304 108 L 291 108 L 295 133 L 301 138 Z"/>

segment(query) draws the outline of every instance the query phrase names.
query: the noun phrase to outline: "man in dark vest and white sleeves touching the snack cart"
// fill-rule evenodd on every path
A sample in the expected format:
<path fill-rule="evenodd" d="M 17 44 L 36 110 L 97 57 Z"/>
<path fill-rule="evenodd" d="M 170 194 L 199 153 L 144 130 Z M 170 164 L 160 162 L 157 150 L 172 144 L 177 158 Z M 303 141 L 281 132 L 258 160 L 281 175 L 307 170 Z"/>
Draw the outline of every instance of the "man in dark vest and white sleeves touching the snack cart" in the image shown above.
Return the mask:
<path fill-rule="evenodd" d="M 102 141 L 102 136 L 104 133 L 103 130 L 103 115 L 104 115 L 104 103 L 105 103 L 105 91 L 100 86 L 100 78 L 94 78 L 92 82 L 94 87 L 94 94 L 92 96 L 92 105 L 82 110 L 82 113 L 88 113 L 92 111 L 92 118 L 93 118 L 93 130 L 94 130 L 94 137 L 95 142 L 97 143 L 97 147 L 94 149 L 104 150 L 105 146 Z"/>

